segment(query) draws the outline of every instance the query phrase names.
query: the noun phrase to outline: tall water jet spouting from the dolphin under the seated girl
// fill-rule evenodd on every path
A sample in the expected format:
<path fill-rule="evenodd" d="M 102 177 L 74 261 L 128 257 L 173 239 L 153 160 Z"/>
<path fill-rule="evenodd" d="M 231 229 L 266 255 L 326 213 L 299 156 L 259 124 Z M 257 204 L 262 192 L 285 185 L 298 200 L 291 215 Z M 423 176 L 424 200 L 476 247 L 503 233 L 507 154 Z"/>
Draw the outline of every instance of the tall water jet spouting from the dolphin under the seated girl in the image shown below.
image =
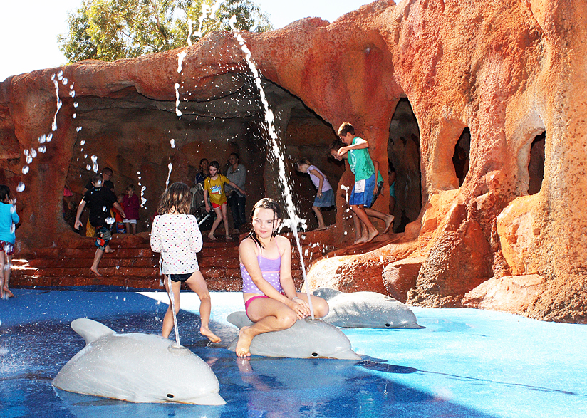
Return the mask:
<path fill-rule="evenodd" d="M 281 152 L 281 150 L 279 149 L 279 144 L 278 144 L 279 137 L 277 136 L 277 132 L 275 130 L 274 113 L 271 111 L 271 109 L 269 109 L 269 102 L 267 101 L 267 98 L 265 96 L 265 90 L 263 89 L 263 86 L 261 85 L 261 77 L 259 76 L 259 71 L 256 69 L 256 66 L 252 61 L 251 51 L 246 46 L 246 43 L 244 43 L 244 38 L 241 36 L 241 34 L 237 30 L 237 28 L 234 26 L 234 23 L 236 23 L 236 22 L 237 22 L 237 16 L 233 15 L 229 20 L 230 27 L 232 28 L 232 31 L 234 32 L 234 36 L 237 38 L 237 41 L 239 42 L 239 45 L 241 46 L 241 49 L 244 52 L 244 59 L 246 60 L 246 63 L 249 65 L 249 69 L 251 70 L 251 73 L 253 74 L 257 90 L 259 90 L 259 94 L 261 95 L 261 103 L 263 103 L 263 106 L 265 109 L 265 122 L 266 122 L 268 130 L 269 130 L 269 137 L 271 137 L 271 146 L 268 147 L 268 150 L 269 150 L 269 152 L 271 152 L 271 155 L 273 155 L 275 160 L 277 162 L 279 162 L 279 178 L 283 180 L 282 186 L 284 188 L 286 211 L 287 211 L 287 214 L 289 215 L 289 219 L 284 219 L 283 224 L 286 226 L 289 226 L 291 228 L 291 231 L 294 234 L 294 237 L 296 239 L 296 245 L 298 247 L 298 253 L 300 256 L 303 283 L 304 283 L 304 286 L 306 286 L 306 293 L 308 294 L 310 313 L 311 313 L 312 319 L 314 319 L 314 310 L 313 310 L 313 306 L 312 306 L 311 291 L 310 291 L 310 286 L 308 286 L 308 277 L 306 276 L 306 265 L 303 261 L 303 254 L 302 254 L 302 250 L 301 250 L 300 238 L 298 236 L 298 227 L 300 226 L 300 224 L 305 224 L 306 221 L 304 219 L 301 219 L 298 216 L 297 211 L 296 211 L 296 207 L 294 206 L 294 199 L 291 195 L 291 189 L 289 187 L 288 176 L 286 173 L 284 155 Z"/>

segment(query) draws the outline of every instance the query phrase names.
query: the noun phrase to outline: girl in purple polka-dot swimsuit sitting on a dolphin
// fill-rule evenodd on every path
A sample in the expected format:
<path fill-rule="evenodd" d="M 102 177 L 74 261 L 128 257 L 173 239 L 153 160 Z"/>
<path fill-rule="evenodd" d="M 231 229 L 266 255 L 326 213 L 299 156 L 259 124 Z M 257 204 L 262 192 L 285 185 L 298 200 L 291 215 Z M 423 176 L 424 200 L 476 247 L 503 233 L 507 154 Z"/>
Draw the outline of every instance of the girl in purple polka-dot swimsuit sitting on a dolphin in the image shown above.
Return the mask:
<path fill-rule="evenodd" d="M 237 355 L 249 357 L 255 335 L 290 328 L 296 320 L 310 315 L 308 295 L 296 292 L 291 278 L 291 245 L 277 235 L 281 208 L 272 199 L 256 202 L 249 236 L 239 246 L 246 315 L 254 325 L 239 333 Z M 328 303 L 312 296 L 314 318 L 328 314 Z"/>

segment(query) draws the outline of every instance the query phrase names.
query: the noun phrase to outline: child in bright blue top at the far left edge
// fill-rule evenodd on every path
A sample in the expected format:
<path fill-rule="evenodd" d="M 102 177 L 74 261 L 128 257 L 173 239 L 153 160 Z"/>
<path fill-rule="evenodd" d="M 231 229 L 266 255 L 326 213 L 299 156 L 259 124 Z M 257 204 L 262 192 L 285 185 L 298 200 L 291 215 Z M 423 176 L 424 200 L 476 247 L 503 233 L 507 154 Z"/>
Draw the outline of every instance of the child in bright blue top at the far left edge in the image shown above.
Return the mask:
<path fill-rule="evenodd" d="M 20 221 L 15 205 L 16 200 L 10 198 L 9 187 L 0 184 L 0 299 L 14 296 L 8 286 L 16 241 L 14 231 Z"/>

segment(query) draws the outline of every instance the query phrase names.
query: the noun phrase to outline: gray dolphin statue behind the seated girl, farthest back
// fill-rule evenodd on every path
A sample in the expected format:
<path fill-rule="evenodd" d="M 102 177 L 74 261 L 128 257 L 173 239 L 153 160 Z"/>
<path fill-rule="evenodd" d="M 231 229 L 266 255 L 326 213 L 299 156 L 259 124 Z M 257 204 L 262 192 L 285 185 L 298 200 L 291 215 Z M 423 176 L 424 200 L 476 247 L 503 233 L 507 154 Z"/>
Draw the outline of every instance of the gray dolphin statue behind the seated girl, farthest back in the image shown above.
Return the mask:
<path fill-rule="evenodd" d="M 318 288 L 313 294 L 326 299 L 330 311 L 322 319 L 337 327 L 424 328 L 417 324 L 416 315 L 410 308 L 381 293 L 343 293 L 331 288 Z"/>

